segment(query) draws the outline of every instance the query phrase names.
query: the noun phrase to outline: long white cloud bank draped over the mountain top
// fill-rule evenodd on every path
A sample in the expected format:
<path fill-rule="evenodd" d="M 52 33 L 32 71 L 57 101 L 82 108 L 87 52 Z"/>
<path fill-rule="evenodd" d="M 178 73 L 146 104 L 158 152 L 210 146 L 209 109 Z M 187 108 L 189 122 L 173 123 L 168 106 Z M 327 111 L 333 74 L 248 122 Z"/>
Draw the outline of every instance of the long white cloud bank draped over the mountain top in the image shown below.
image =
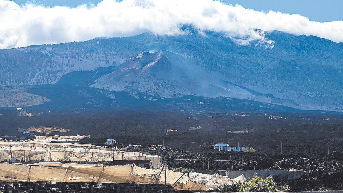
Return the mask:
<path fill-rule="evenodd" d="M 298 14 L 267 13 L 212 0 L 104 0 L 76 8 L 42 7 L 0 0 L 0 48 L 122 37 L 146 31 L 182 33 L 182 24 L 268 42 L 253 29 L 315 35 L 343 42 L 343 21 L 314 22 Z"/>

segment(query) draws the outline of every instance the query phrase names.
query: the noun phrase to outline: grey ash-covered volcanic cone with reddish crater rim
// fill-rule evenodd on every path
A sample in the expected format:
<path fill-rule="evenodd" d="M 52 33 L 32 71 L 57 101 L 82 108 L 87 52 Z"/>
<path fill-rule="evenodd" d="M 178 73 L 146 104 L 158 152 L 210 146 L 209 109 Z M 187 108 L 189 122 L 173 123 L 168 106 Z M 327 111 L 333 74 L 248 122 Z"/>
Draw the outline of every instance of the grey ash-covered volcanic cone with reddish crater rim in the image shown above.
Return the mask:
<path fill-rule="evenodd" d="M 142 52 L 99 77 L 91 87 L 131 94 L 145 93 L 166 98 L 196 95 L 216 98 L 228 96 L 282 104 L 303 109 L 291 100 L 264 95 L 222 80 L 170 51 Z"/>

